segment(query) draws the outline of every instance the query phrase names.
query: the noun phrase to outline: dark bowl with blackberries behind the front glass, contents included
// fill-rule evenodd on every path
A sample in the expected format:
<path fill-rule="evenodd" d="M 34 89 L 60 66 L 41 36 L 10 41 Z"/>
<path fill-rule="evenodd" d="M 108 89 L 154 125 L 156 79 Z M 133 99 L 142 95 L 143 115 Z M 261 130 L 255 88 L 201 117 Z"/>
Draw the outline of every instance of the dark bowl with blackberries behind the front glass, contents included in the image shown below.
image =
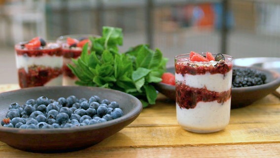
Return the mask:
<path fill-rule="evenodd" d="M 162 82 L 155 88 L 168 99 L 175 101 L 175 68 L 167 68 Z M 242 108 L 276 92 L 280 86 L 280 74 L 256 67 L 233 67 L 231 109 Z"/>

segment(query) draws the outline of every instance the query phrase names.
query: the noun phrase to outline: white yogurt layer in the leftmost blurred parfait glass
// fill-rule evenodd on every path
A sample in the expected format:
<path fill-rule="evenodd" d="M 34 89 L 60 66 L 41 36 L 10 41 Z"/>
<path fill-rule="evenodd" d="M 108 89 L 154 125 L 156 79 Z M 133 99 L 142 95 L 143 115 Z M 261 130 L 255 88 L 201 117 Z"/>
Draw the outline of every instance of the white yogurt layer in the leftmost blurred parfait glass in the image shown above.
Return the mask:
<path fill-rule="evenodd" d="M 43 65 L 51 68 L 61 68 L 63 65 L 63 56 L 43 55 L 39 57 L 29 57 L 27 55 L 16 55 L 17 69 L 24 68 L 28 72 L 28 66 Z"/>

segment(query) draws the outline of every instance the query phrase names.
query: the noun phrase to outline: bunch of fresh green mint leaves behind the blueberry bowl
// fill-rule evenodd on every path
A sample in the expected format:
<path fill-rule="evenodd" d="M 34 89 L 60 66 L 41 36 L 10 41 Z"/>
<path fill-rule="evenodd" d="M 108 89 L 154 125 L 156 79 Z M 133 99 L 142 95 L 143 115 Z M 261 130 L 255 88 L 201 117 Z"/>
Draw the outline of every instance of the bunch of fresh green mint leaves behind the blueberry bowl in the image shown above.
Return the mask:
<path fill-rule="evenodd" d="M 74 65 L 68 65 L 78 78 L 77 85 L 126 92 L 139 98 L 143 107 L 155 104 L 157 91 L 153 83 L 162 80 L 168 61 L 159 49 L 154 51 L 147 44 L 141 44 L 120 53 L 122 29 L 114 27 L 103 27 L 102 37 L 90 40 L 90 49 L 86 43 L 81 56 L 72 59 Z"/>

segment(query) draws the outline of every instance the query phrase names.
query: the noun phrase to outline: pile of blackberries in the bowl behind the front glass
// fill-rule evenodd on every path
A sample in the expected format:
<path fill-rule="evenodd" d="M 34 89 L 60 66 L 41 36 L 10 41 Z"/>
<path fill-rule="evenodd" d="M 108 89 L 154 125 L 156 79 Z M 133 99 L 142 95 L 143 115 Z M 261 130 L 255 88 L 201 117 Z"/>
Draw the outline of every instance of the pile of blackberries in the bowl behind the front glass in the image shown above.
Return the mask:
<path fill-rule="evenodd" d="M 266 75 L 263 72 L 250 68 L 234 67 L 232 74 L 232 87 L 248 87 L 264 84 Z"/>

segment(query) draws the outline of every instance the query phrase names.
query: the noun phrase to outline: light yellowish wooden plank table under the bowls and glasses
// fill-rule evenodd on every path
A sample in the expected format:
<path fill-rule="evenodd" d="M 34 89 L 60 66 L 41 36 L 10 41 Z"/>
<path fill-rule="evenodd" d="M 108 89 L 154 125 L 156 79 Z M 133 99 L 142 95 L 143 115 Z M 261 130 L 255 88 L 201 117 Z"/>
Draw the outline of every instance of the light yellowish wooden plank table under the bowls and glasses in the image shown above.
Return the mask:
<path fill-rule="evenodd" d="M 1 85 L 0 92 L 18 89 Z M 280 88 L 278 88 L 280 91 Z M 29 153 L 0 142 L 0 158 L 277 158 L 280 157 L 280 99 L 269 94 L 231 111 L 222 131 L 197 134 L 176 121 L 175 103 L 159 94 L 139 118 L 90 148 L 59 154 Z"/>

